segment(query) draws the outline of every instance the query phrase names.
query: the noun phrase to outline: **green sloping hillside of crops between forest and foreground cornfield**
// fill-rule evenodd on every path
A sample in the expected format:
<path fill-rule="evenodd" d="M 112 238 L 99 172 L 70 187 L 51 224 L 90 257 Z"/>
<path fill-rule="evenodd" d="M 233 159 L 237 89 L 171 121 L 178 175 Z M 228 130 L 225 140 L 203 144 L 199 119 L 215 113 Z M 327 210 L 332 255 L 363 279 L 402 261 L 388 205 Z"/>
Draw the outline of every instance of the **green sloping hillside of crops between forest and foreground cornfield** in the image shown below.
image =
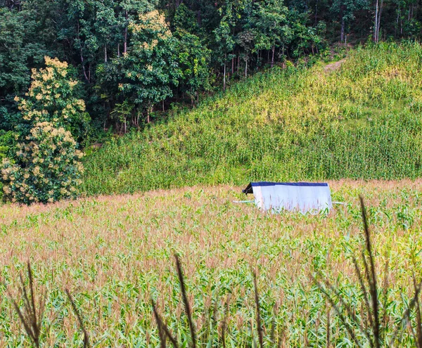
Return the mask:
<path fill-rule="evenodd" d="M 85 158 L 87 194 L 422 174 L 420 44 L 275 67 Z"/>

